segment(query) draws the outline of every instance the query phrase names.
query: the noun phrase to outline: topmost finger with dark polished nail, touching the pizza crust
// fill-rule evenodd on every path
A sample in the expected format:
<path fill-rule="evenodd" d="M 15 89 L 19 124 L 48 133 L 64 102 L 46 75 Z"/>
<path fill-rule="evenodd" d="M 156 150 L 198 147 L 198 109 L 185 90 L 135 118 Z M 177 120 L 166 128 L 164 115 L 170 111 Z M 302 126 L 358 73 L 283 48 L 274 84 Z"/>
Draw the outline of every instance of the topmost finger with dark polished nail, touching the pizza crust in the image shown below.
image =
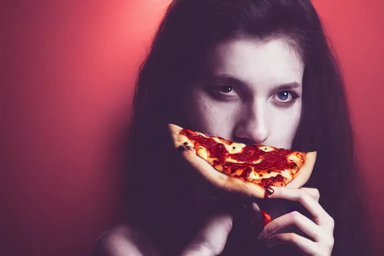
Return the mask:
<path fill-rule="evenodd" d="M 282 198 L 300 202 L 313 216 L 314 222 L 318 225 L 327 225 L 333 228 L 334 222 L 329 214 L 315 201 L 306 191 L 297 188 L 271 186 L 273 193 L 268 198 Z"/>

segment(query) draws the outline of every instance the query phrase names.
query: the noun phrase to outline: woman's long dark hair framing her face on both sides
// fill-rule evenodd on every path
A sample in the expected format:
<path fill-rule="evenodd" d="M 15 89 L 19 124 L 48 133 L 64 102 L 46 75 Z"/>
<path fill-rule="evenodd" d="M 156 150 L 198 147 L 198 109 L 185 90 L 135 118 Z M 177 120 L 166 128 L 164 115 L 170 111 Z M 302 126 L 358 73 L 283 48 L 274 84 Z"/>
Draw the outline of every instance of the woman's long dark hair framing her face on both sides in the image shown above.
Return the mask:
<path fill-rule="evenodd" d="M 173 0 L 136 81 L 129 138 L 127 216 L 164 248 L 188 238 L 192 187 L 175 170 L 166 124 L 188 126 L 185 86 L 206 53 L 233 37 L 288 38 L 304 64 L 303 108 L 292 149 L 317 151 L 305 186 L 335 220 L 334 255 L 369 255 L 363 187 L 354 155 L 346 93 L 336 55 L 310 0 Z M 177 192 L 175 192 L 177 191 Z M 181 217 L 180 217 L 181 216 Z M 192 226 L 193 224 L 191 224 Z M 185 235 L 184 235 L 185 234 Z"/>

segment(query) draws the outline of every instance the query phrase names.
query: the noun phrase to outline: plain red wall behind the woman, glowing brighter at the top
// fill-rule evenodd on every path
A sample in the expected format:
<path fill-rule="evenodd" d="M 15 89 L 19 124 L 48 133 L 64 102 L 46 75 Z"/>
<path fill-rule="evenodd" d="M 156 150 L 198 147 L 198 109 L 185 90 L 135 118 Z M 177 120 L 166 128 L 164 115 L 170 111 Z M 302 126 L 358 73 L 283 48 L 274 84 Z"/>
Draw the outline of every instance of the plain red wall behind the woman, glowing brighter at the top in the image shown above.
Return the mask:
<path fill-rule="evenodd" d="M 9 2 L 1 7 L 0 254 L 84 255 L 121 214 L 119 136 L 135 70 L 170 0 Z M 313 2 L 341 59 L 382 250 L 384 2 Z"/>

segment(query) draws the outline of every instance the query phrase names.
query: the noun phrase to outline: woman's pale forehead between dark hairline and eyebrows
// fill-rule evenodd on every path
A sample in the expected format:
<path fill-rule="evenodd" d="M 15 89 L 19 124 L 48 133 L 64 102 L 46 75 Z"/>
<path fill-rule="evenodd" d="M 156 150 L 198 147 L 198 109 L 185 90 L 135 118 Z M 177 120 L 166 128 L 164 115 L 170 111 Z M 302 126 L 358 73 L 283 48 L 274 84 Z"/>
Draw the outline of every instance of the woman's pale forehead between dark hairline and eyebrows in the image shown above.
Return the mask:
<path fill-rule="evenodd" d="M 232 39 L 207 55 L 208 76 L 231 77 L 249 84 L 277 85 L 302 82 L 304 64 L 284 39 Z"/>

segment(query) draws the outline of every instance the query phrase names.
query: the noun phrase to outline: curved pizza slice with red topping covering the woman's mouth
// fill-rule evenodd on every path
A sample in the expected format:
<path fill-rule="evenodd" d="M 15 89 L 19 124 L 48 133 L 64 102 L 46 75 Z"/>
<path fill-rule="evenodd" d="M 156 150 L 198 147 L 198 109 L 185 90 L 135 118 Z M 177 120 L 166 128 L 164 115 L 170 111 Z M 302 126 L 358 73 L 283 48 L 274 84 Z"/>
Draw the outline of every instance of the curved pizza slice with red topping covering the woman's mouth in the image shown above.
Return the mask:
<path fill-rule="evenodd" d="M 269 185 L 299 188 L 308 180 L 316 152 L 245 145 L 168 124 L 173 145 L 214 186 L 258 198 Z"/>

